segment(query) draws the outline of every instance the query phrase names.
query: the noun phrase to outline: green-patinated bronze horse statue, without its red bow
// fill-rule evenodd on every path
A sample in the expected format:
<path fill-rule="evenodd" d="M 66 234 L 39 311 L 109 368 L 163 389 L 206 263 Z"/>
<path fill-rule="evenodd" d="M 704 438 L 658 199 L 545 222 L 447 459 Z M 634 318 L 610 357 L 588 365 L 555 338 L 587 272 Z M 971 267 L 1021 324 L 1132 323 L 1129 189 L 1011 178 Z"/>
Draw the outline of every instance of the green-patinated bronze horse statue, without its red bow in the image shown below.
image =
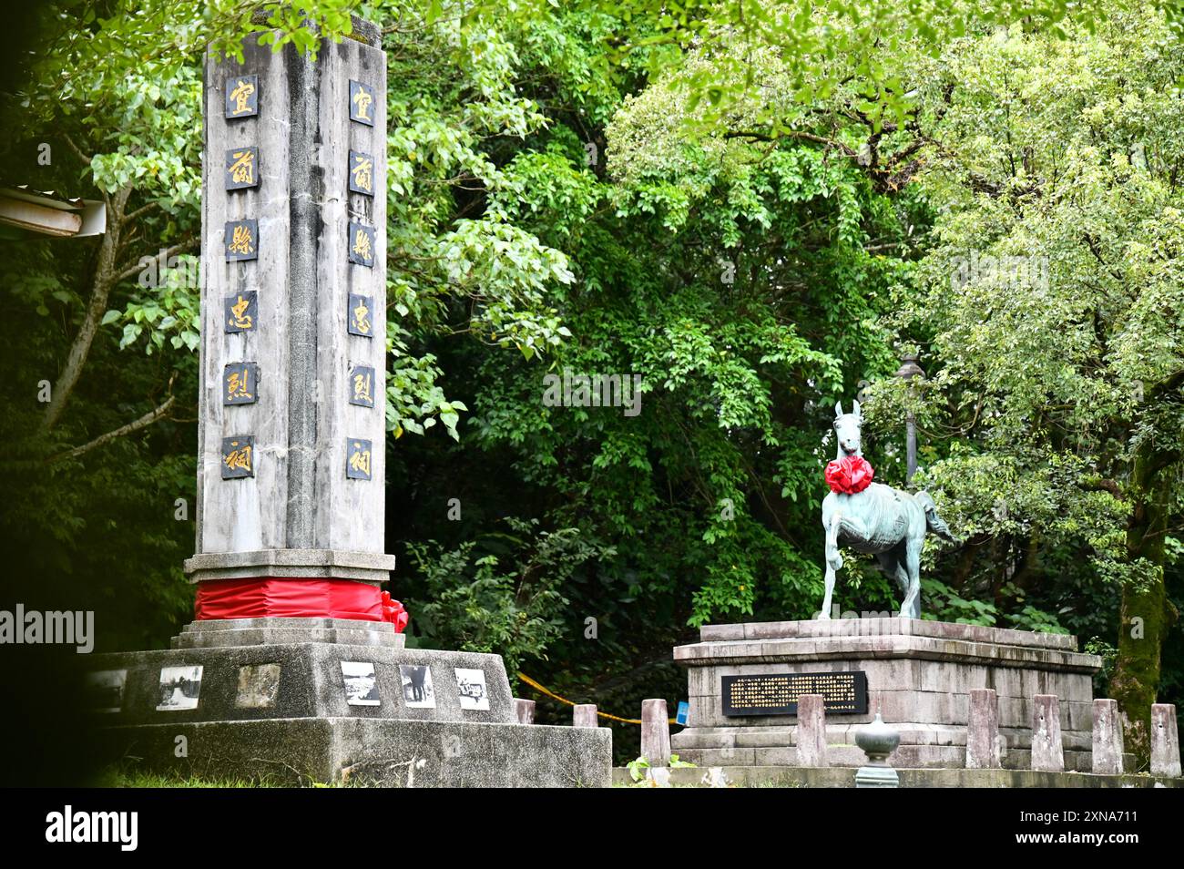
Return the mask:
<path fill-rule="evenodd" d="M 849 456 L 863 457 L 863 417 L 856 401 L 850 413 L 843 403 L 835 405 L 836 462 Z M 826 597 L 819 618 L 830 618 L 835 572 L 842 568 L 841 543 L 857 552 L 875 553 L 880 569 L 896 580 L 905 600 L 901 618 L 921 618 L 921 546 L 926 532 L 954 541 L 928 493 L 912 495 L 881 483 L 869 483 L 852 494 L 831 491 L 822 502 L 822 524 L 826 529 Z"/>

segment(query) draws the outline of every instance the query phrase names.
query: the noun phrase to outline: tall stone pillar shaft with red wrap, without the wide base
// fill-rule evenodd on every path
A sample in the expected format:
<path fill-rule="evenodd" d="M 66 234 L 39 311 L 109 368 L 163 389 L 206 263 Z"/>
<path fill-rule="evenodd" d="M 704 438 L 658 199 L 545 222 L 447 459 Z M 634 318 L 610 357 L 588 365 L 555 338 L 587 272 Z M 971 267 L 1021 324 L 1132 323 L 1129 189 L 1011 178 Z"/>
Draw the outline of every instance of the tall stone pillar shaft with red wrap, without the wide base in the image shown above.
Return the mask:
<path fill-rule="evenodd" d="M 380 622 L 386 54 L 206 59 L 197 619 Z"/>

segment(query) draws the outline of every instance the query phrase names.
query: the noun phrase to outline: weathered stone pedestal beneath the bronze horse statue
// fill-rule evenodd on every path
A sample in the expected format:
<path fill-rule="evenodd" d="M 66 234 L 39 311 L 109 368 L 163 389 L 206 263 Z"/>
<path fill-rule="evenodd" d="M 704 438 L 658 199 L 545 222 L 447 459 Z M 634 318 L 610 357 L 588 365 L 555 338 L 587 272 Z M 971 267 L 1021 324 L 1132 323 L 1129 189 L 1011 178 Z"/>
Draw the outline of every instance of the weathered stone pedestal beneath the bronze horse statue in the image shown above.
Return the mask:
<path fill-rule="evenodd" d="M 690 710 L 671 746 L 701 766 L 796 765 L 794 715 L 746 713 L 783 703 L 786 690 L 802 687 L 803 694 L 835 693 L 826 702 L 832 765 L 864 762 L 855 732 L 879 708 L 901 735 L 888 759 L 893 766 L 961 768 L 970 691 L 992 688 L 1005 768 L 1029 765 L 1037 694 L 1060 697 L 1066 770 L 1090 766 L 1092 677 L 1101 658 L 1080 654 L 1067 635 L 864 618 L 704 625 L 700 641 L 674 650 L 688 669 Z M 738 684 L 729 677 L 744 678 Z M 866 706 L 857 696 L 864 683 Z"/>

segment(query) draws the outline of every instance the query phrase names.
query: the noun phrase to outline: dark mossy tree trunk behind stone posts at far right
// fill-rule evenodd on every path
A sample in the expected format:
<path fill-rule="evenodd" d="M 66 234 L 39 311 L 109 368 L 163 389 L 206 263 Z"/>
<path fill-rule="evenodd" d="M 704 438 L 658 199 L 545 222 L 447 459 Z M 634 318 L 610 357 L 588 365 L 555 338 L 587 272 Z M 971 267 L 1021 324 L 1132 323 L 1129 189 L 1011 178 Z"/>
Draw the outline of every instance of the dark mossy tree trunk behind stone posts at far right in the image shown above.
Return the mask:
<path fill-rule="evenodd" d="M 1152 445 L 1140 446 L 1131 475 L 1132 513 L 1127 524 L 1128 573 L 1122 580 L 1118 662 L 1111 696 L 1126 713 L 1126 747 L 1145 768 L 1150 758 L 1151 704 L 1159 689 L 1159 654 L 1176 622 L 1164 586 L 1164 538 L 1171 504 L 1169 461 Z"/>

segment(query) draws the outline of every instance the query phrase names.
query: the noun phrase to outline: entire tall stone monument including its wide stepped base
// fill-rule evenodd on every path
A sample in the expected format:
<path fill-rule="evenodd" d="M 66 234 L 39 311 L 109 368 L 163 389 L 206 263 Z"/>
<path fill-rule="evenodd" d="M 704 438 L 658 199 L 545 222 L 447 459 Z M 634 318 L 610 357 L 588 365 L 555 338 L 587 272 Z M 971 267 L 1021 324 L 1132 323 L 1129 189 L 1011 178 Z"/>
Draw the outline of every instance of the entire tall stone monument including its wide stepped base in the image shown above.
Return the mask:
<path fill-rule="evenodd" d="M 197 618 L 170 649 L 86 656 L 102 751 L 205 778 L 606 786 L 609 728 L 519 723 L 500 655 L 404 648 L 378 587 L 380 37 L 354 19 L 316 60 L 247 39 L 206 62 Z"/>

